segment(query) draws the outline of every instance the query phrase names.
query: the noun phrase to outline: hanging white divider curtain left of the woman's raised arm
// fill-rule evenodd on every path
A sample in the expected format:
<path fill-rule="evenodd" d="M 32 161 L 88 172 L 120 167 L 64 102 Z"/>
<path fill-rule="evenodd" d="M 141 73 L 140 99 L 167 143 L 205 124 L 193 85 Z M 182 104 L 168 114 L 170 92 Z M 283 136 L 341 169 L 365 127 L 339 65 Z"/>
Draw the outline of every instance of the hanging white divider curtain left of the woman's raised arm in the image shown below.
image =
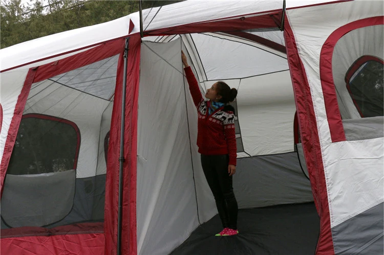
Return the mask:
<path fill-rule="evenodd" d="M 198 225 L 180 52 L 180 39 L 141 47 L 138 254 L 169 253 Z"/>

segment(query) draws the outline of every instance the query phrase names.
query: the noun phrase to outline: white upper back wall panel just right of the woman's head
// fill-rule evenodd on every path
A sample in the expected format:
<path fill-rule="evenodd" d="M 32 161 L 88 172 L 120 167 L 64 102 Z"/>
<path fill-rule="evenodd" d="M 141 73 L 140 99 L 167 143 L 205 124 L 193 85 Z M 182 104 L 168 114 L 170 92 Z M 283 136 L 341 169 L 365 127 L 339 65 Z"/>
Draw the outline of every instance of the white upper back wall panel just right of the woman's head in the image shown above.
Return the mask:
<path fill-rule="evenodd" d="M 296 107 L 289 71 L 242 79 L 237 104 L 246 153 L 255 156 L 293 151 Z"/>

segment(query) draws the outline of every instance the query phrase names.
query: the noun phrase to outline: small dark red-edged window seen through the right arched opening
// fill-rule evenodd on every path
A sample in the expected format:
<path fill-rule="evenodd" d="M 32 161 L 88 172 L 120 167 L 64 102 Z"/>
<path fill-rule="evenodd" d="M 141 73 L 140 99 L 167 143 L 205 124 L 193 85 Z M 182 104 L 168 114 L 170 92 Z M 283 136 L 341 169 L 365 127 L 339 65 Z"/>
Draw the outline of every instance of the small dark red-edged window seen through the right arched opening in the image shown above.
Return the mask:
<path fill-rule="evenodd" d="M 382 63 L 371 60 L 361 64 L 347 81 L 347 88 L 361 117 L 383 115 Z"/>

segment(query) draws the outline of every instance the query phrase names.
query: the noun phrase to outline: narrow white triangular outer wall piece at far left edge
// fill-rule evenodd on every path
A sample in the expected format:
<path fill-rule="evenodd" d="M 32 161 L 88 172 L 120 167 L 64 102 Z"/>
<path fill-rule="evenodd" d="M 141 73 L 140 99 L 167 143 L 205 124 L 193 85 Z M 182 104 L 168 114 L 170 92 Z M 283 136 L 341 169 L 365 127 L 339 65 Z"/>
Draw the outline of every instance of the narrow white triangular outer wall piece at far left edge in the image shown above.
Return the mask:
<path fill-rule="evenodd" d="M 0 133 L 0 162 L 3 158 L 4 146 L 17 98 L 22 91 L 27 74 L 28 69 L 0 73 L 0 104 L 2 104 L 3 107 L 3 123 L 1 123 L 2 130 Z"/>

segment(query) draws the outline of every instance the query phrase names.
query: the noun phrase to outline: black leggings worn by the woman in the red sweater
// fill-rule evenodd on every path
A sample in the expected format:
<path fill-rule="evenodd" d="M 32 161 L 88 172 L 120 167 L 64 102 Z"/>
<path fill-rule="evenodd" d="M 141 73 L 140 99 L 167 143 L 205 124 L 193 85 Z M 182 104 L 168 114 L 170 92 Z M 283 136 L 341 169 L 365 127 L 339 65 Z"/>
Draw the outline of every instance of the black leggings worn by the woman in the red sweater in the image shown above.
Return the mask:
<path fill-rule="evenodd" d="M 228 162 L 228 155 L 201 155 L 201 166 L 223 227 L 237 229 L 238 202 L 233 193 L 232 176 L 228 174 Z"/>

